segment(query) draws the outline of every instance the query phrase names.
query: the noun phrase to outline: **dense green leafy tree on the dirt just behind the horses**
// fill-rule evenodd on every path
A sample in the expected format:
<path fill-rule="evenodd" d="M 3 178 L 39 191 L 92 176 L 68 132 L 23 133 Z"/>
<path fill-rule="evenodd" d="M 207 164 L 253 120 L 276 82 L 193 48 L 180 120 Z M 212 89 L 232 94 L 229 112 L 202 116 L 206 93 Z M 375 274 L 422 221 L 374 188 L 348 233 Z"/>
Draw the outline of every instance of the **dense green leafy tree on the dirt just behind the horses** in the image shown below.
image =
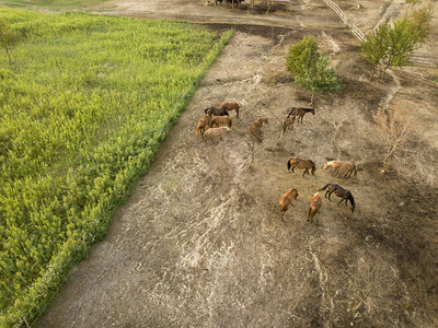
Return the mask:
<path fill-rule="evenodd" d="M 289 48 L 286 68 L 293 74 L 295 84 L 311 92 L 311 104 L 315 93 L 341 89 L 334 69 L 328 68 L 328 59 L 320 52 L 318 43 L 311 36 L 304 36 Z"/>

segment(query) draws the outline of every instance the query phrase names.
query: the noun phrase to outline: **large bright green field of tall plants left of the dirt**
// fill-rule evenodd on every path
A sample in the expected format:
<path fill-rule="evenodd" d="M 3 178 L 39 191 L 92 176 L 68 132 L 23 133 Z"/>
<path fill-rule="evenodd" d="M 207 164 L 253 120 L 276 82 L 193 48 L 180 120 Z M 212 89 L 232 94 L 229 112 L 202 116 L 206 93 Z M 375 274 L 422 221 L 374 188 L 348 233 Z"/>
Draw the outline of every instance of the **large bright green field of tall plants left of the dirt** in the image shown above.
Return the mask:
<path fill-rule="evenodd" d="M 0 327 L 32 320 L 106 232 L 231 32 L 0 9 Z"/>

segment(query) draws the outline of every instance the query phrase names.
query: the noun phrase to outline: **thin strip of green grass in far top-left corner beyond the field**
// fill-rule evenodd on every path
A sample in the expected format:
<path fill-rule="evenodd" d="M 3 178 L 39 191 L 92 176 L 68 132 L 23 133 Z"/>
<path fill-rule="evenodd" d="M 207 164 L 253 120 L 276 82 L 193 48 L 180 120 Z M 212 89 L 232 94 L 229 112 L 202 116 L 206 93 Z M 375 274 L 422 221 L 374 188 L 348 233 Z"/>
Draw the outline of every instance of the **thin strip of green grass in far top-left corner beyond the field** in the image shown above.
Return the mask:
<path fill-rule="evenodd" d="M 0 4 L 10 8 L 77 9 L 94 5 L 108 0 L 1 0 Z"/>

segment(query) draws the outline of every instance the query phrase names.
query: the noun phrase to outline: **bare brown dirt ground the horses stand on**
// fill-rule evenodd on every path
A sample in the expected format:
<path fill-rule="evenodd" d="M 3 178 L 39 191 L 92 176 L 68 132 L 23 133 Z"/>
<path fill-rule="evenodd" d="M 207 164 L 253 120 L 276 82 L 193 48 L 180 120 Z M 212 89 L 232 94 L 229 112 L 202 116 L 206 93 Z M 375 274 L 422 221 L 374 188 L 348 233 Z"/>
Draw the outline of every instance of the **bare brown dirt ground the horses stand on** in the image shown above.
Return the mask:
<path fill-rule="evenodd" d="M 373 5 L 371 26 L 382 3 L 362 3 L 365 13 Z M 269 15 L 201 1 L 115 1 L 104 10 L 246 25 L 208 25 L 237 32 L 38 327 L 438 326 L 436 69 L 368 82 L 358 42 L 322 2 Z M 344 87 L 318 95 L 315 115 L 279 139 L 286 109 L 308 105 L 285 56 L 309 34 Z M 243 104 L 240 118 L 231 114 L 223 140 L 204 142 L 194 134 L 203 109 L 226 99 Z M 415 133 L 382 175 L 372 114 L 396 103 L 412 109 Z M 258 143 L 249 125 L 262 116 L 269 122 Z M 314 161 L 315 175 L 288 173 L 292 155 Z M 358 162 L 357 178 L 331 177 L 322 166 L 333 159 Z M 332 181 L 353 192 L 356 211 L 323 199 L 308 223 L 311 196 Z M 281 222 L 278 200 L 291 187 L 299 197 Z"/>

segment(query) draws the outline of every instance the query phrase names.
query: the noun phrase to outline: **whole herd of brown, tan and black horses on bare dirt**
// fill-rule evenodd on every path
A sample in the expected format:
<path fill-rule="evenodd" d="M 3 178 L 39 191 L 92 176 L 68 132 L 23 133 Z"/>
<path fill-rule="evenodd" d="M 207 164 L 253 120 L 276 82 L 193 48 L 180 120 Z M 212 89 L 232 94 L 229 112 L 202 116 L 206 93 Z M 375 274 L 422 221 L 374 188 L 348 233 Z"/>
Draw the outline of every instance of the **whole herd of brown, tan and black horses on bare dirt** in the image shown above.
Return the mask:
<path fill-rule="evenodd" d="M 239 118 L 239 109 L 242 107 L 241 104 L 231 102 L 231 103 L 222 103 L 219 107 L 208 107 L 204 110 L 205 115 L 198 120 L 195 134 L 201 134 L 204 140 L 207 141 L 208 139 L 222 139 L 222 136 L 229 133 L 232 127 L 232 119 L 230 117 L 229 112 L 234 110 L 237 113 L 237 118 Z M 303 124 L 303 117 L 306 114 L 311 113 L 315 115 L 314 108 L 309 107 L 290 107 L 287 109 L 287 116 L 283 121 L 283 132 L 286 129 L 292 129 L 293 124 L 300 122 Z M 257 140 L 258 142 L 263 141 L 263 132 L 262 127 L 264 124 L 267 124 L 268 119 L 266 117 L 261 117 L 253 121 L 250 125 L 250 132 L 251 134 Z M 287 162 L 288 172 L 291 171 L 295 173 L 295 169 L 303 169 L 302 176 L 306 174 L 314 175 L 316 171 L 316 166 L 314 162 L 311 160 L 299 159 L 299 157 L 291 157 Z M 344 177 L 349 178 L 351 175 L 357 176 L 357 165 L 351 161 L 330 161 L 324 164 L 324 169 L 332 168 L 332 176 L 334 177 Z M 323 188 L 319 189 L 318 191 L 325 190 L 324 198 L 327 198 L 328 201 L 332 201 L 331 196 L 334 194 L 335 196 L 339 197 L 341 200 L 338 204 L 345 201 L 345 204 L 350 203 L 351 213 L 355 211 L 356 203 L 351 192 L 339 185 L 336 184 L 327 184 Z M 279 208 L 280 208 L 280 215 L 281 221 L 286 211 L 289 207 L 292 206 L 293 200 L 298 198 L 298 190 L 296 188 L 290 188 L 287 190 L 279 200 Z M 322 206 L 322 198 L 320 192 L 315 192 L 311 200 L 308 210 L 308 221 L 312 222 L 314 215 L 319 212 Z"/>

